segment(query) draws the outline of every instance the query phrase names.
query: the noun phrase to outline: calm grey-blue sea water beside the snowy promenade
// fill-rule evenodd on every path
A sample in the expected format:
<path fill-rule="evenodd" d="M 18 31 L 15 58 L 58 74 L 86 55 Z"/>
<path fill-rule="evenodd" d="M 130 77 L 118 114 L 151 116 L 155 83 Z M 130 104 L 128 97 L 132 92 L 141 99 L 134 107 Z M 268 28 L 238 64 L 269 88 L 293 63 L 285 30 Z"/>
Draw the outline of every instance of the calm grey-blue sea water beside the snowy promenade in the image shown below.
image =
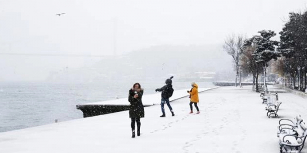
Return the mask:
<path fill-rule="evenodd" d="M 115 96 L 126 98 L 134 83 L 120 80 L 99 83 L 0 83 L 0 132 L 50 124 L 55 119 L 60 122 L 83 118 L 82 111 L 76 109 L 77 104 L 115 99 Z M 139 83 L 145 89 L 144 94 L 153 94 L 154 89 L 164 85 L 164 80 Z M 211 82 L 196 83 L 200 88 L 214 86 Z M 173 79 L 175 90 L 190 88 L 190 84 Z"/>

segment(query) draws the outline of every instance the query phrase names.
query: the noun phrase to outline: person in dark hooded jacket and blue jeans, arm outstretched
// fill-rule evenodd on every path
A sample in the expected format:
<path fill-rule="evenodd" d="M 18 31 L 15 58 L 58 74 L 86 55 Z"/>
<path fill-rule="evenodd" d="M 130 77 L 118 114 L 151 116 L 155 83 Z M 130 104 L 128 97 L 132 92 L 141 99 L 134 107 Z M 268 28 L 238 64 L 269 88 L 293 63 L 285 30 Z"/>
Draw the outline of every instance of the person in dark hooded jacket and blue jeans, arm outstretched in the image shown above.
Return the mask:
<path fill-rule="evenodd" d="M 161 110 L 162 110 L 162 115 L 160 117 L 165 117 L 165 110 L 164 110 L 164 103 L 167 104 L 167 106 L 169 107 L 169 110 L 171 111 L 172 113 L 172 116 L 175 116 L 174 114 L 174 111 L 172 109 L 172 106 L 169 104 L 169 97 L 170 97 L 170 89 L 173 88 L 173 85 L 172 85 L 172 78 L 173 76 L 171 76 L 169 79 L 166 79 L 165 80 L 165 86 L 163 86 L 162 88 L 157 88 L 156 89 L 156 92 L 157 91 L 162 91 L 161 93 Z"/>

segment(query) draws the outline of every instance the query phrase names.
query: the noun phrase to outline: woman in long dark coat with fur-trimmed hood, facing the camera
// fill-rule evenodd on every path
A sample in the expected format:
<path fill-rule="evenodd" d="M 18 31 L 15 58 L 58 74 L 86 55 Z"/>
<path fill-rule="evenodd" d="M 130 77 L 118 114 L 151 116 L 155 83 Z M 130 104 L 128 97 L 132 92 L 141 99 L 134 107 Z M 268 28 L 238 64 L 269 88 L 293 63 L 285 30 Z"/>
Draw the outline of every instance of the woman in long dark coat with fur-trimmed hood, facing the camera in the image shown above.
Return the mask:
<path fill-rule="evenodd" d="M 139 83 L 135 83 L 133 87 L 129 90 L 129 97 L 128 101 L 130 102 L 130 109 L 129 109 L 129 117 L 131 118 L 131 129 L 132 129 L 132 138 L 135 137 L 135 122 L 138 127 L 137 135 L 140 136 L 140 128 L 141 128 L 141 121 L 140 118 L 144 118 L 144 106 L 142 103 L 142 95 L 144 90 L 141 88 Z"/>

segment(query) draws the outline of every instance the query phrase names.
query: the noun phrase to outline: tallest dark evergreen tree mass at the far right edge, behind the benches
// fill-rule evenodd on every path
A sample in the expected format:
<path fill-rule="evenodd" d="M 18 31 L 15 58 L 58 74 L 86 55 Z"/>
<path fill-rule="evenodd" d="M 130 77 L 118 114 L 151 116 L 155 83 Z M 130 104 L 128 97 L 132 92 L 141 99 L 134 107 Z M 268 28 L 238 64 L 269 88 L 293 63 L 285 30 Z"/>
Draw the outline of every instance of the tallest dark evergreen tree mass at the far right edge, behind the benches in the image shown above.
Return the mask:
<path fill-rule="evenodd" d="M 278 51 L 284 56 L 285 74 L 291 76 L 292 88 L 295 88 L 298 77 L 298 89 L 306 88 L 307 67 L 307 13 L 289 13 L 289 21 L 279 32 Z"/>

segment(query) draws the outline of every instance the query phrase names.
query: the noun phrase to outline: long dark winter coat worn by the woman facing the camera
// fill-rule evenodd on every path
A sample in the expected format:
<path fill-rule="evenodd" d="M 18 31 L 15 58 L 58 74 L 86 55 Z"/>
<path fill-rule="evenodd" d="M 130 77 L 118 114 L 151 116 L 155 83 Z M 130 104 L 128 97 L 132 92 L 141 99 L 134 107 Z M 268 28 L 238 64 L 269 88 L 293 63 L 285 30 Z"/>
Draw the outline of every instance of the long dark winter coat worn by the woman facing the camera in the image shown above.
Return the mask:
<path fill-rule="evenodd" d="M 144 91 L 136 92 L 133 89 L 129 90 L 129 97 L 128 101 L 130 102 L 130 109 L 129 109 L 129 117 L 130 118 L 144 118 L 144 106 L 142 103 L 142 95 Z M 135 94 L 138 94 L 138 98 L 133 98 Z"/>

